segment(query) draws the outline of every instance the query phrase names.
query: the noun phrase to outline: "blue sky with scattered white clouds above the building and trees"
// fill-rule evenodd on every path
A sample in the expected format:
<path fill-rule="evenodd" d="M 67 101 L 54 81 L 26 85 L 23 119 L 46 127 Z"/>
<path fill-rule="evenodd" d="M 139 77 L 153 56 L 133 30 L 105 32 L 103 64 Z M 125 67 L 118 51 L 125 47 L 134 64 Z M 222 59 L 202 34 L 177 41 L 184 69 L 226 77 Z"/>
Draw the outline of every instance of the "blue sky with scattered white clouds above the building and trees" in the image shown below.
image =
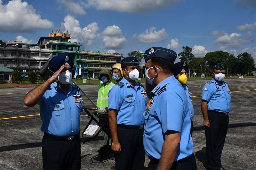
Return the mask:
<path fill-rule="evenodd" d="M 89 51 L 193 48 L 256 59 L 255 0 L 0 0 L 0 39 L 35 43 L 61 28 Z"/>

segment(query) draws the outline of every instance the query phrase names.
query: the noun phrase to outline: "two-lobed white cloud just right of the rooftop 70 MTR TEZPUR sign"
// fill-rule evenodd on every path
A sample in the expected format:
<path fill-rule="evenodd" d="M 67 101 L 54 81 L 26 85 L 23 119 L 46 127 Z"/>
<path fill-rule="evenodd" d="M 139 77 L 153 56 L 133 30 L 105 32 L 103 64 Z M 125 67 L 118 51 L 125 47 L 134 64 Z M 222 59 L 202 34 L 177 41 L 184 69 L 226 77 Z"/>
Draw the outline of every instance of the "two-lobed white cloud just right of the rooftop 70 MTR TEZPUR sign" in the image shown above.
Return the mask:
<path fill-rule="evenodd" d="M 81 42 L 85 47 L 91 46 L 92 43 L 100 38 L 98 23 L 88 24 L 83 29 L 80 27 L 79 21 L 71 15 L 64 18 L 65 32 L 71 33 L 70 41 Z"/>

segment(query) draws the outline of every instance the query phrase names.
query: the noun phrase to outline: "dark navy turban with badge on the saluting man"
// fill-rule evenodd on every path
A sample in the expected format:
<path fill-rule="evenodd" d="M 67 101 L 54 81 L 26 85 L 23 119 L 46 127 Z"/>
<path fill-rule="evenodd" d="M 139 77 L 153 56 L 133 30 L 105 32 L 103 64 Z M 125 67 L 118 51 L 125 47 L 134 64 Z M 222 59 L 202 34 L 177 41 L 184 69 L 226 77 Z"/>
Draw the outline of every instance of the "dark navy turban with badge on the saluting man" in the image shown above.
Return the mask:
<path fill-rule="evenodd" d="M 52 59 L 49 61 L 48 69 L 52 72 L 56 72 L 60 69 L 62 64 L 65 65 L 67 63 L 71 66 L 71 68 L 73 67 L 74 59 L 72 55 L 68 52 L 61 53 L 59 55 L 56 55 L 55 57 L 52 57 Z"/>

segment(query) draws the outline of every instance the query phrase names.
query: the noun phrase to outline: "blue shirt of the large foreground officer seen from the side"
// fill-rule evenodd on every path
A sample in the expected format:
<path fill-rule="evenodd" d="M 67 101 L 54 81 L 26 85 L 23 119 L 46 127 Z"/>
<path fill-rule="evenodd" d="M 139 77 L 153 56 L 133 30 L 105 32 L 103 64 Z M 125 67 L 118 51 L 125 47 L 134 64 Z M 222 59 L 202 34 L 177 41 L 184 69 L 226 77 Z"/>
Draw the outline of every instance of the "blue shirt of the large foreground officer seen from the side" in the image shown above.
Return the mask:
<path fill-rule="evenodd" d="M 180 132 L 175 161 L 192 155 L 188 100 L 174 76 L 164 79 L 150 92 L 150 104 L 144 115 L 144 148 L 148 157 L 160 159 L 167 130 Z"/>

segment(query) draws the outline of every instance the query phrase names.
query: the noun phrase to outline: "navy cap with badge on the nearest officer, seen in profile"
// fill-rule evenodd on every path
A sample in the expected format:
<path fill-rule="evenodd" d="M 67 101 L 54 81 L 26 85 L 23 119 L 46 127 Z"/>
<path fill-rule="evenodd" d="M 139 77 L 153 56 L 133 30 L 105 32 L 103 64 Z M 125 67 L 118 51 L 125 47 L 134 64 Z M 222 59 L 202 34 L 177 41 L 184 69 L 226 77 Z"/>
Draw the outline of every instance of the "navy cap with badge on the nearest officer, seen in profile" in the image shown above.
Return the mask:
<path fill-rule="evenodd" d="M 162 47 L 152 47 L 148 48 L 143 55 L 145 62 L 151 58 L 164 58 L 172 63 L 174 63 L 177 58 L 177 53 L 171 49 L 162 48 Z"/>

